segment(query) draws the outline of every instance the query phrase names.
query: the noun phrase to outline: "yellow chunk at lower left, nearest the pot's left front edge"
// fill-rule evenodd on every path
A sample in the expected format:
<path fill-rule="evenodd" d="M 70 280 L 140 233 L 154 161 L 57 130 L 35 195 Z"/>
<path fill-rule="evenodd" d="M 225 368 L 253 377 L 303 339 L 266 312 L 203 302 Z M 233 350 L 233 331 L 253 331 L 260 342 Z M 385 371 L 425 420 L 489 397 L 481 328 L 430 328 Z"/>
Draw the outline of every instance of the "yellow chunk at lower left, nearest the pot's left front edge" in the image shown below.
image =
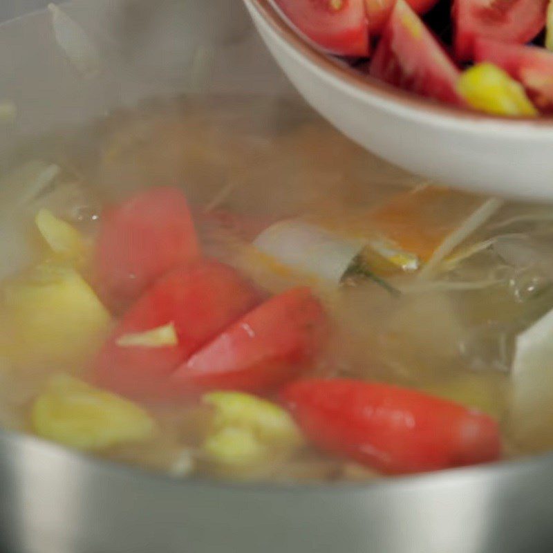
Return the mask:
<path fill-rule="evenodd" d="M 31 421 L 42 438 L 84 451 L 148 440 L 155 427 L 138 405 L 68 375 L 50 378 Z"/>

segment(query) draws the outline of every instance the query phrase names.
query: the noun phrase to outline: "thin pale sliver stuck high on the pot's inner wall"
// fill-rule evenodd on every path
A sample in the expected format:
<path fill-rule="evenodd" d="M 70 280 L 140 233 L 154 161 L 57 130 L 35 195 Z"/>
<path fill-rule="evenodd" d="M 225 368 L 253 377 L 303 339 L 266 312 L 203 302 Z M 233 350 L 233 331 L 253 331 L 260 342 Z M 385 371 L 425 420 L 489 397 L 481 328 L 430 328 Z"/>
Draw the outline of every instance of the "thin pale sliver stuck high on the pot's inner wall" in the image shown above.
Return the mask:
<path fill-rule="evenodd" d="M 52 26 L 59 47 L 64 50 L 79 73 L 87 78 L 96 77 L 102 70 L 102 64 L 93 41 L 62 8 L 50 3 L 48 10 L 52 15 Z"/>

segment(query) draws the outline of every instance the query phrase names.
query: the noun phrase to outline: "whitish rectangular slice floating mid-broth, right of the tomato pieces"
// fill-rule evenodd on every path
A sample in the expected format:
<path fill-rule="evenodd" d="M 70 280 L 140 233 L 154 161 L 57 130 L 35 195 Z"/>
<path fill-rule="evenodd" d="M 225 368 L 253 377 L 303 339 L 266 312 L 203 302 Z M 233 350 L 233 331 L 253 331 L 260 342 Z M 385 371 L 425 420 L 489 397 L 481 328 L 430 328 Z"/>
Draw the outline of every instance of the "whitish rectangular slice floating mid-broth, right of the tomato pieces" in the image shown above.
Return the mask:
<path fill-rule="evenodd" d="M 254 246 L 290 267 L 338 284 L 366 242 L 337 236 L 300 219 L 279 221 L 265 229 Z"/>

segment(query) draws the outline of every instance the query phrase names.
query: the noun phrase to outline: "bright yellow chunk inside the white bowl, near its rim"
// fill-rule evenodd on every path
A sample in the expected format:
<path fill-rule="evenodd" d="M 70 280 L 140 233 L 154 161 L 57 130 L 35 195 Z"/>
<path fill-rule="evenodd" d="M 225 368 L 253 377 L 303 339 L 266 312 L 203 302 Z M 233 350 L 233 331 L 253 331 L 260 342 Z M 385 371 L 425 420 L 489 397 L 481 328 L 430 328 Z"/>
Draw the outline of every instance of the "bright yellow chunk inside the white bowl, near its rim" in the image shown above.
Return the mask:
<path fill-rule="evenodd" d="M 538 115 L 523 86 L 494 64 L 484 62 L 467 69 L 457 87 L 475 109 L 495 115 Z"/>

